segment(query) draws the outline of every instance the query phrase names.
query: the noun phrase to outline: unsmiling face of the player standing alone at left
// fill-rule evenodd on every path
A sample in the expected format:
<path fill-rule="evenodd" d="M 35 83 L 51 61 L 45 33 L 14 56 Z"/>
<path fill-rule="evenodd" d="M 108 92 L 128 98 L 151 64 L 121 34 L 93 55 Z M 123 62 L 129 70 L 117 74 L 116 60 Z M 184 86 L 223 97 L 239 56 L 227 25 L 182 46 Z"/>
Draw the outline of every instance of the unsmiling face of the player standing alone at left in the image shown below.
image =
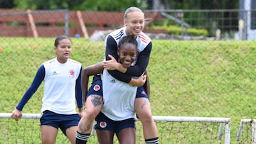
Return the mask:
<path fill-rule="evenodd" d="M 71 41 L 68 38 L 58 40 L 58 45 L 54 48 L 57 60 L 60 63 L 67 62 L 71 55 Z"/>

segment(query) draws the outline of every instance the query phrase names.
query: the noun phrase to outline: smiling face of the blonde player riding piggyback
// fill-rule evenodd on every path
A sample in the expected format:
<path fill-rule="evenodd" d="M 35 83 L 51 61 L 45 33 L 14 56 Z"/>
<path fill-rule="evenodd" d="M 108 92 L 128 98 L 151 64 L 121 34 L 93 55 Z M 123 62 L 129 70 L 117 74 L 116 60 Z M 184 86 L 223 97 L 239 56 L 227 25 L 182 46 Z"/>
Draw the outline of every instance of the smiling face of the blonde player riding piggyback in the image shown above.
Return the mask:
<path fill-rule="evenodd" d="M 131 11 L 127 13 L 124 19 L 124 24 L 127 26 L 127 35 L 137 36 L 143 31 L 144 24 L 144 13 L 142 11 Z"/>

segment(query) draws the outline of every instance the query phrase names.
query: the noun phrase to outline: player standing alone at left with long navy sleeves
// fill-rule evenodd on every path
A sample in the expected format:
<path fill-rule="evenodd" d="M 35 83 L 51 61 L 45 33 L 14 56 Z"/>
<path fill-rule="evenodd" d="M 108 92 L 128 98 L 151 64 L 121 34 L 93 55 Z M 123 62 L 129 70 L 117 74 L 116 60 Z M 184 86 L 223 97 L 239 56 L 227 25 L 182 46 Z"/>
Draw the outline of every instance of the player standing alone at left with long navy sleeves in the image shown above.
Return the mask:
<path fill-rule="evenodd" d="M 39 67 L 31 86 L 23 95 L 11 117 L 18 121 L 23 106 L 44 81 L 43 104 L 41 108 L 41 140 L 43 144 L 55 143 L 58 128 L 75 143 L 75 132 L 82 116 L 82 89 L 80 62 L 70 59 L 71 40 L 60 35 L 55 39 L 57 57 Z M 75 100 L 79 114 L 75 110 Z"/>

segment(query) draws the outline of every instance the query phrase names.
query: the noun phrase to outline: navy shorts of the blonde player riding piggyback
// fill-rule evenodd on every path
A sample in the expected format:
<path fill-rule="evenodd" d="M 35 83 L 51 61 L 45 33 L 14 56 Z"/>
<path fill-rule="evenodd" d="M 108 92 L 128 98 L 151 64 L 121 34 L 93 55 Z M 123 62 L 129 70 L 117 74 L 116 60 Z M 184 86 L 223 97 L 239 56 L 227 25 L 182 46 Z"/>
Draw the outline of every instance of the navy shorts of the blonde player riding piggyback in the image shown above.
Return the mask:
<path fill-rule="evenodd" d="M 89 88 L 88 92 L 87 92 L 87 96 L 90 95 L 99 95 L 99 96 L 103 96 L 103 92 L 102 92 L 102 79 L 100 75 L 95 75 L 92 79 L 92 85 Z M 149 99 L 149 96 L 146 94 L 144 87 L 138 87 L 137 89 L 137 94 L 136 94 L 136 98 L 141 98 L 144 97 L 146 99 Z"/>

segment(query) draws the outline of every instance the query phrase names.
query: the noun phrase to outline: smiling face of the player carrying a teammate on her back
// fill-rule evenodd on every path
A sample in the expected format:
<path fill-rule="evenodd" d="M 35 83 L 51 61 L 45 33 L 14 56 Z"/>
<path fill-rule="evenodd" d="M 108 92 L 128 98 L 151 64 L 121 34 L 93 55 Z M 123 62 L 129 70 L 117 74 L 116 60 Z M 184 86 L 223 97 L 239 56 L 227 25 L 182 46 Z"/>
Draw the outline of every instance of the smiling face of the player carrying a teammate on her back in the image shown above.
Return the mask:
<path fill-rule="evenodd" d="M 117 49 L 120 63 L 125 67 L 130 67 L 134 62 L 137 55 L 137 45 L 133 43 L 124 43 Z"/>

